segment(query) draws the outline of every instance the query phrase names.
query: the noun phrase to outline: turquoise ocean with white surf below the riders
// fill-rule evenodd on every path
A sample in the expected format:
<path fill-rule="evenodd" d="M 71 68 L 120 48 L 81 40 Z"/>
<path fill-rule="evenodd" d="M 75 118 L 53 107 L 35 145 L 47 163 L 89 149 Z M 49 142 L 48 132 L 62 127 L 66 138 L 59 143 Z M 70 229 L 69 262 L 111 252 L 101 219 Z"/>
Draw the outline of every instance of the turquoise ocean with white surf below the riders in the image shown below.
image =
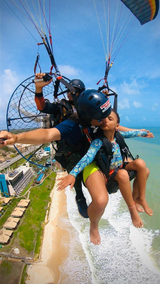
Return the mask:
<path fill-rule="evenodd" d="M 133 127 L 138 128 L 138 127 Z M 150 169 L 146 197 L 153 216 L 140 213 L 144 227 L 132 225 L 129 210 L 120 191 L 109 195 L 109 203 L 99 221 L 102 244 L 90 243 L 90 222 L 79 215 L 75 192 L 67 187 L 67 214 L 58 226 L 70 236 L 62 238 L 61 246 L 68 252 L 59 267 L 63 284 L 160 284 L 160 127 L 150 129 L 154 139 L 126 139 L 129 150 L 145 160 Z M 83 192 L 87 203 L 90 194 Z"/>

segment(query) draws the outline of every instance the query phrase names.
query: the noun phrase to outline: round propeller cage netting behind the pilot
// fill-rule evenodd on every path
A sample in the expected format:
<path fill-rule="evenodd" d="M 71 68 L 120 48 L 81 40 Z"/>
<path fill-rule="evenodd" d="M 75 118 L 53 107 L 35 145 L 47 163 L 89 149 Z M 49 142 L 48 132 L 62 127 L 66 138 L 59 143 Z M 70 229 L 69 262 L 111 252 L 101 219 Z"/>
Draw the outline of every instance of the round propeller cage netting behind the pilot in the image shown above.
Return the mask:
<path fill-rule="evenodd" d="M 43 95 L 45 99 L 54 102 L 54 86 L 56 77 L 52 74 L 53 81 L 51 84 L 43 88 Z M 8 132 L 19 134 L 28 132 L 38 128 L 46 128 L 49 115 L 40 113 L 35 104 L 35 84 L 33 79 L 35 76 L 29 77 L 24 80 L 15 89 L 13 95 L 10 97 L 7 109 L 7 128 Z M 66 81 L 70 81 L 65 78 Z M 65 91 L 66 88 L 63 84 L 59 84 L 58 93 Z M 60 96 L 61 98 L 61 96 Z M 16 144 L 15 149 L 19 152 L 26 161 L 38 166 L 45 166 L 45 159 L 38 161 L 35 153 L 44 148 L 45 145 L 23 145 Z"/>

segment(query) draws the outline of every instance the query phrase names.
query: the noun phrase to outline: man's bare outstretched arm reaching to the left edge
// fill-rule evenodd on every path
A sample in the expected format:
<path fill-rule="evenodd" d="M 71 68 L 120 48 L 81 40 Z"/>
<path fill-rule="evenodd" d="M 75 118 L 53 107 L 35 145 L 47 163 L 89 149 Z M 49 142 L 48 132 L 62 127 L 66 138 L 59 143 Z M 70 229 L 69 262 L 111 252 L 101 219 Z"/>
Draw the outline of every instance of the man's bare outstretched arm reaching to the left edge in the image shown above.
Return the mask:
<path fill-rule="evenodd" d="M 36 129 L 30 132 L 12 134 L 7 131 L 0 132 L 0 139 L 6 139 L 1 145 L 14 145 L 15 143 L 39 145 L 51 141 L 61 140 L 61 133 L 56 128 Z"/>

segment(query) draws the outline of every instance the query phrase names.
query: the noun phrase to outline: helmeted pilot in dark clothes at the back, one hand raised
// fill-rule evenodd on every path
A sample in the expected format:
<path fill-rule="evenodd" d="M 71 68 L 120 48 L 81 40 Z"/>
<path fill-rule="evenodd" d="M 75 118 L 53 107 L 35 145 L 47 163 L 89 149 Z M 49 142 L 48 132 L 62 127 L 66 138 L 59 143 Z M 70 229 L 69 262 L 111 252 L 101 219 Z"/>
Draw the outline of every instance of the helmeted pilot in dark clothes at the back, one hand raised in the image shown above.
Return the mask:
<path fill-rule="evenodd" d="M 63 151 L 63 155 L 57 155 L 55 156 L 55 159 L 62 164 L 62 166 L 64 164 L 63 167 L 67 169 L 67 173 L 70 173 L 76 162 L 78 162 L 84 155 L 83 143 L 81 143 L 81 130 L 74 123 L 76 116 L 74 116 L 74 119 L 70 118 L 67 120 L 67 118 L 69 118 L 73 113 L 77 113 L 77 110 L 74 107 L 70 90 L 66 91 L 68 100 L 63 98 L 61 101 L 58 100 L 54 103 L 45 100 L 42 94 L 42 88 L 47 84 L 50 84 L 51 80 L 48 82 L 40 81 L 44 76 L 45 73 L 35 74 L 35 103 L 39 111 L 42 113 L 51 114 L 51 125 L 56 127 L 59 132 L 61 132 L 61 142 L 57 141 L 57 147 L 60 152 Z M 72 79 L 69 84 L 74 87 L 77 97 L 86 89 L 83 82 L 79 79 Z M 65 123 L 61 124 L 64 121 Z M 71 135 L 71 133 L 73 135 Z M 88 218 L 88 205 L 86 204 L 86 198 L 83 196 L 82 180 L 83 175 L 81 173 L 77 177 L 74 184 L 76 191 L 76 202 L 79 213 L 84 218 Z"/>

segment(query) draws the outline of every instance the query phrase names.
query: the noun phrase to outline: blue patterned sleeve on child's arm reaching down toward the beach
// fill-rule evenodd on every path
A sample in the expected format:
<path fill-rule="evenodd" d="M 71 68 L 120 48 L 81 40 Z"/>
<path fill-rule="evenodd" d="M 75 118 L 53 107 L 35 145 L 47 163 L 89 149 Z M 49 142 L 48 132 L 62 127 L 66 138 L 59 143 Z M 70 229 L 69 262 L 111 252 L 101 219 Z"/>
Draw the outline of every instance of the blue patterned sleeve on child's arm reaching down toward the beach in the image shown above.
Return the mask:
<path fill-rule="evenodd" d="M 91 144 L 88 152 L 86 155 L 78 162 L 76 166 L 70 172 L 70 175 L 73 175 L 75 178 L 77 175 L 83 171 L 86 166 L 92 163 L 93 159 L 95 159 L 95 155 L 97 154 L 98 150 L 102 147 L 103 143 L 99 139 L 95 139 Z"/>

